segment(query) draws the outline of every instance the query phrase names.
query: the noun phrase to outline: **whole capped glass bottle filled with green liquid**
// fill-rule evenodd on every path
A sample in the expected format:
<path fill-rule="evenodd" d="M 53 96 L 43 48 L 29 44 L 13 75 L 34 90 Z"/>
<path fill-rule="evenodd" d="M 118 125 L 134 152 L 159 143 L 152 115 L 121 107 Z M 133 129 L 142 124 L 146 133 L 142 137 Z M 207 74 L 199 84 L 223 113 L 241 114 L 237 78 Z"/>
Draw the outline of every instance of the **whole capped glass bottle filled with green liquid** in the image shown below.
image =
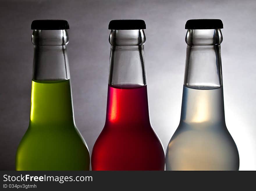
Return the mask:
<path fill-rule="evenodd" d="M 90 156 L 74 122 L 64 20 L 35 20 L 31 113 L 16 170 L 89 170 Z"/>

